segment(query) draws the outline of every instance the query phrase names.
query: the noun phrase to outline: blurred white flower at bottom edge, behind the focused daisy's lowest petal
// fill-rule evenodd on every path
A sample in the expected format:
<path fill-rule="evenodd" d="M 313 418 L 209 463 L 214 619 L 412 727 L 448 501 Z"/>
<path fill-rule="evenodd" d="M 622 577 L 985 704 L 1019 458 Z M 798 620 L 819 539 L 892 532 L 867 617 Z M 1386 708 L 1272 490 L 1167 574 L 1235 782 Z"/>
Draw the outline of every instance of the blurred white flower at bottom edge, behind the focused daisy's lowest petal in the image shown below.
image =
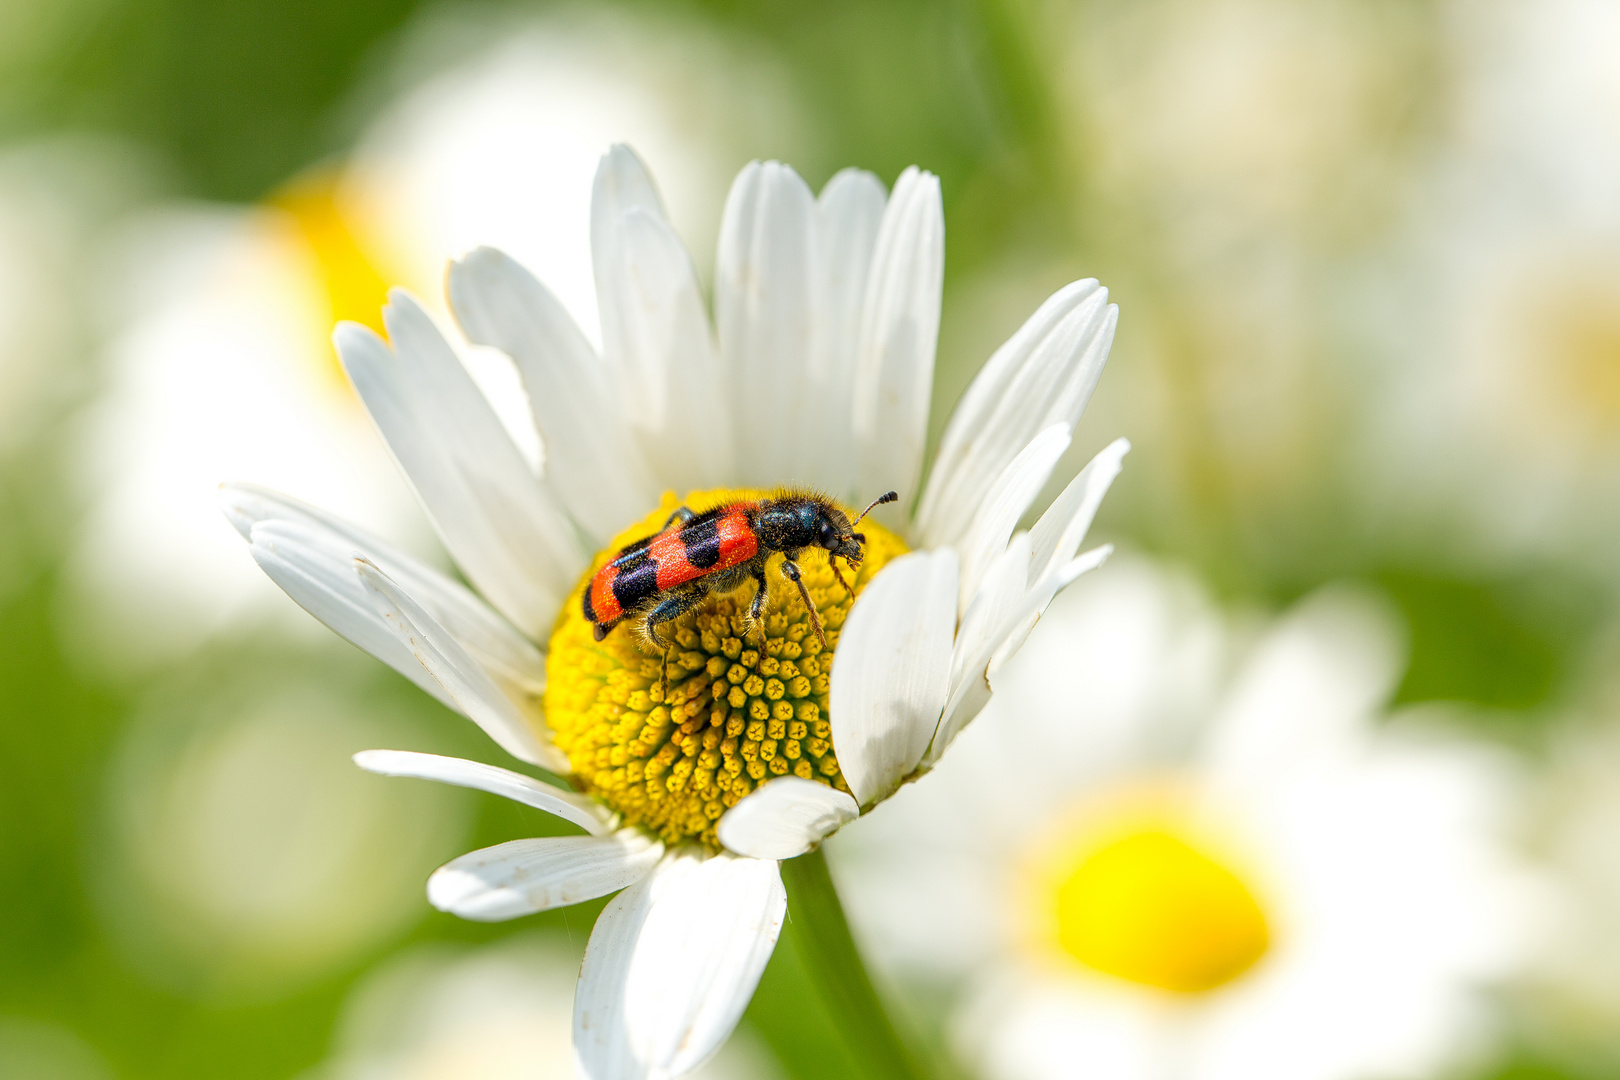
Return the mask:
<path fill-rule="evenodd" d="M 407 952 L 350 994 L 335 1052 L 303 1080 L 572 1080 L 578 965 L 577 949 L 531 936 Z M 737 1040 L 697 1074 L 773 1075 L 770 1054 Z"/>

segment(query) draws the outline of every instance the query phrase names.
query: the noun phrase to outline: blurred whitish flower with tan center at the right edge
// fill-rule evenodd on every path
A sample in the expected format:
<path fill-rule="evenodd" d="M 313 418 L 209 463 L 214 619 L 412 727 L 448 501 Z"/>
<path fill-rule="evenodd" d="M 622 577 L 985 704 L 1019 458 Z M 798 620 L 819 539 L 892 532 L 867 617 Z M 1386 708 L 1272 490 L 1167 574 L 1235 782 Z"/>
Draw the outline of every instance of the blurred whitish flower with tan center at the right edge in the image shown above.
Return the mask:
<path fill-rule="evenodd" d="M 1366 497 L 1383 515 L 1461 515 L 1473 554 L 1557 554 L 1612 575 L 1620 228 L 1479 209 L 1413 259 L 1426 303 L 1390 327 L 1396 366 L 1369 431 Z"/>

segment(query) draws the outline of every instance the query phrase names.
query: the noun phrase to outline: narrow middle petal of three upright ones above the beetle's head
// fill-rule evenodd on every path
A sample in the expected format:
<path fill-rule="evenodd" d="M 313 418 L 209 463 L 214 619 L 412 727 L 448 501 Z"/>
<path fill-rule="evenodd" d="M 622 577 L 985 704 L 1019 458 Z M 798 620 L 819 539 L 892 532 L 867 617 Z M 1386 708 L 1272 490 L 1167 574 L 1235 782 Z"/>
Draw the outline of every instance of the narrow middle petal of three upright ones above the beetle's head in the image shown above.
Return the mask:
<path fill-rule="evenodd" d="M 807 481 L 844 500 L 855 491 L 855 350 L 860 306 L 878 244 L 883 181 L 860 168 L 844 168 L 816 199 L 815 350 L 810 356 L 810 393 L 820 424 L 820 449 L 807 463 Z"/>

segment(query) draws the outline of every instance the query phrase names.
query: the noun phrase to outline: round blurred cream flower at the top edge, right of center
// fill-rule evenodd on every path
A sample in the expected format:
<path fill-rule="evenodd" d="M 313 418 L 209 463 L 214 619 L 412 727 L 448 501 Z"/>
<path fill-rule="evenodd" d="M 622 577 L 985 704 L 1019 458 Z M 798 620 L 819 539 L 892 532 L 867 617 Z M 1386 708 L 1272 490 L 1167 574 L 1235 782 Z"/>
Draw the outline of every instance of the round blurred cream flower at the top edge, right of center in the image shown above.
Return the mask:
<path fill-rule="evenodd" d="M 1063 100 L 1173 256 L 1332 232 L 1392 165 L 1418 23 L 1345 0 L 1076 8 Z"/>

